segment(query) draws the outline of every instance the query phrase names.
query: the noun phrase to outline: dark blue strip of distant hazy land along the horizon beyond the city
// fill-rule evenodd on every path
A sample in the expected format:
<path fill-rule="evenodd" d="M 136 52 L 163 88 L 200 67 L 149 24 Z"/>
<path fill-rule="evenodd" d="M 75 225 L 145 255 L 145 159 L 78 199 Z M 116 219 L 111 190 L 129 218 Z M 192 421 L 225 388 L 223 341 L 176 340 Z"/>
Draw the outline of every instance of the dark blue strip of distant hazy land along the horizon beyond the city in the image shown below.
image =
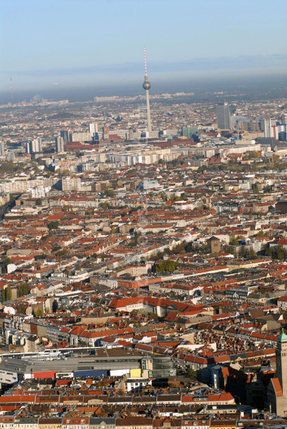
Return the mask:
<path fill-rule="evenodd" d="M 130 82 L 129 84 L 117 85 L 86 85 L 81 87 L 54 85 L 52 88 L 31 88 L 25 91 L 13 89 L 13 102 L 18 103 L 26 99 L 30 101 L 35 95 L 49 100 L 69 101 L 94 101 L 94 97 L 104 96 L 135 96 L 142 94 L 142 80 Z M 217 91 L 239 91 L 239 88 L 245 91 L 263 91 L 272 88 L 282 88 L 282 95 L 279 98 L 287 97 L 287 73 L 270 74 L 266 76 L 214 76 L 213 79 L 207 79 L 204 76 L 185 78 L 180 80 L 170 79 L 150 79 L 150 94 L 175 93 L 175 92 L 217 92 Z M 11 101 L 10 91 L 0 91 L 0 103 L 9 103 Z"/>

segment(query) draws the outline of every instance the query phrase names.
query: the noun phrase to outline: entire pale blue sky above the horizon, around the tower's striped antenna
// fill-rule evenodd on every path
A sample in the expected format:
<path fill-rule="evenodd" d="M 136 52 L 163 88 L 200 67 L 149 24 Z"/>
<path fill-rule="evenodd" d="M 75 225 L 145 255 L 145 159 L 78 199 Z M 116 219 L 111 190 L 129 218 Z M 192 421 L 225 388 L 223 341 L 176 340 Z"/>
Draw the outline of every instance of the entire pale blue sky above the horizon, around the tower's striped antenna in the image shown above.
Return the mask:
<path fill-rule="evenodd" d="M 0 91 L 286 73 L 287 0 L 0 0 Z"/>

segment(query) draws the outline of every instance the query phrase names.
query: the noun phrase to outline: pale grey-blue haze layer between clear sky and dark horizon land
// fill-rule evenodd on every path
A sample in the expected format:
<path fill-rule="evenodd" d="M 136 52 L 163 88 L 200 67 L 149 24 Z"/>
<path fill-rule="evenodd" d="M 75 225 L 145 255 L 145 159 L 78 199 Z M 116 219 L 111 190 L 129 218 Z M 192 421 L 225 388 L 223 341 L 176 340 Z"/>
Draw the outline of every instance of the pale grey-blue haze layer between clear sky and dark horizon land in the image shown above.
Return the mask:
<path fill-rule="evenodd" d="M 287 54 L 254 55 L 221 58 L 194 58 L 178 62 L 154 61 L 148 63 L 148 76 L 153 82 L 187 81 L 194 79 L 236 79 L 264 78 L 269 76 L 287 76 Z M 94 86 L 112 87 L 117 85 L 138 85 L 143 80 L 144 64 L 120 63 L 98 66 L 82 66 L 62 69 L 34 69 L 0 72 L 2 85 L 0 92 L 10 93 L 12 78 L 13 92 L 47 91 L 55 87 L 87 88 Z M 83 83 L 84 82 L 84 83 Z M 153 89 L 151 88 L 151 93 Z"/>

